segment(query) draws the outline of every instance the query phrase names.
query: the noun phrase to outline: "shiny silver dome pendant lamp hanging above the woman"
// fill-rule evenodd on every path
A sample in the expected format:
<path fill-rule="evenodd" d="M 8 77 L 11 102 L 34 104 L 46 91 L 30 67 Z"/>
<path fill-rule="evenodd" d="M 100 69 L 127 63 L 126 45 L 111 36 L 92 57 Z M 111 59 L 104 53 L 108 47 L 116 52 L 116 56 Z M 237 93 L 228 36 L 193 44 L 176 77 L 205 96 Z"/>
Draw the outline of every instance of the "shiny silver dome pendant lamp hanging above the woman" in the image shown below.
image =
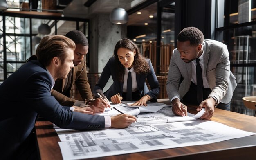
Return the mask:
<path fill-rule="evenodd" d="M 118 0 L 119 6 L 119 0 Z M 110 22 L 114 24 L 126 24 L 128 22 L 128 14 L 125 9 L 117 7 L 110 13 Z"/>

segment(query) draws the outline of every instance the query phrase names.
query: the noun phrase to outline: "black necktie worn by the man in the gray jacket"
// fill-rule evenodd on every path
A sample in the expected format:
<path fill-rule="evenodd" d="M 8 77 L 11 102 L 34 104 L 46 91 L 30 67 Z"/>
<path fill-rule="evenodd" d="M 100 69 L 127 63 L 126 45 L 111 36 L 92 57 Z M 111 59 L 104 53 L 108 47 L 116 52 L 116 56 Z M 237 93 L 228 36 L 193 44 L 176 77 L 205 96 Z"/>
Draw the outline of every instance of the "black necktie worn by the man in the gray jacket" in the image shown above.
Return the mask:
<path fill-rule="evenodd" d="M 202 76 L 202 68 L 200 66 L 200 59 L 197 58 L 196 60 L 196 88 L 198 94 L 198 103 L 203 101 L 203 76 Z"/>

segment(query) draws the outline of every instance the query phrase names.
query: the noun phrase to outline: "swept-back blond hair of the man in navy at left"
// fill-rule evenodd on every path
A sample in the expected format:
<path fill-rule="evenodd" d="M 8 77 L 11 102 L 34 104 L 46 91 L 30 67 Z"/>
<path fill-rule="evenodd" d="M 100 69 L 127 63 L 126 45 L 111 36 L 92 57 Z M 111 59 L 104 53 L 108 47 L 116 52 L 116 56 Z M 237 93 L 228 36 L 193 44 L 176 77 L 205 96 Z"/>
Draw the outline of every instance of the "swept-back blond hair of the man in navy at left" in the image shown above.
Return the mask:
<path fill-rule="evenodd" d="M 75 50 L 75 43 L 64 35 L 49 35 L 43 37 L 36 49 L 36 57 L 43 66 L 49 66 L 54 57 L 61 62 L 67 57 L 68 49 Z"/>

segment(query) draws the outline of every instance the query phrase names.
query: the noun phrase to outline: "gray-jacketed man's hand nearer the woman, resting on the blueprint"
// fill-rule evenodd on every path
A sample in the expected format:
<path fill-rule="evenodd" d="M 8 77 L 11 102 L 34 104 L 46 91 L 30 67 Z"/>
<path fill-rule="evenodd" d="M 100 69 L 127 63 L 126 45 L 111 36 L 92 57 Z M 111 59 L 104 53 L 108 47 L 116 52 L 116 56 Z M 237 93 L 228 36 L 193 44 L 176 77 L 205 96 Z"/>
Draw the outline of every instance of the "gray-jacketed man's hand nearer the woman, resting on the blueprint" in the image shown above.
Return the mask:
<path fill-rule="evenodd" d="M 187 116 L 187 106 L 180 102 L 179 99 L 173 99 L 172 111 L 176 116 Z"/>

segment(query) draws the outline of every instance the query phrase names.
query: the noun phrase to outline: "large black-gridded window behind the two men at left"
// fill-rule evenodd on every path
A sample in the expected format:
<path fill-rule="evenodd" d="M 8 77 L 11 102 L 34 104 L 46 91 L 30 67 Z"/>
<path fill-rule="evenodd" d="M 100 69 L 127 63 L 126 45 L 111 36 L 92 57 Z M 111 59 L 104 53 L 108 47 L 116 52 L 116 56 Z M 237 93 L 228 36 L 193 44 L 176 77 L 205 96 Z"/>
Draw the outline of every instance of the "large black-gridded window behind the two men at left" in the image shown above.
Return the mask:
<path fill-rule="evenodd" d="M 88 25 L 88 20 L 80 18 L 1 13 L 0 81 L 4 81 L 26 59 L 36 54 L 36 47 L 43 37 L 65 35 L 72 30 L 80 30 L 88 37 Z"/>

